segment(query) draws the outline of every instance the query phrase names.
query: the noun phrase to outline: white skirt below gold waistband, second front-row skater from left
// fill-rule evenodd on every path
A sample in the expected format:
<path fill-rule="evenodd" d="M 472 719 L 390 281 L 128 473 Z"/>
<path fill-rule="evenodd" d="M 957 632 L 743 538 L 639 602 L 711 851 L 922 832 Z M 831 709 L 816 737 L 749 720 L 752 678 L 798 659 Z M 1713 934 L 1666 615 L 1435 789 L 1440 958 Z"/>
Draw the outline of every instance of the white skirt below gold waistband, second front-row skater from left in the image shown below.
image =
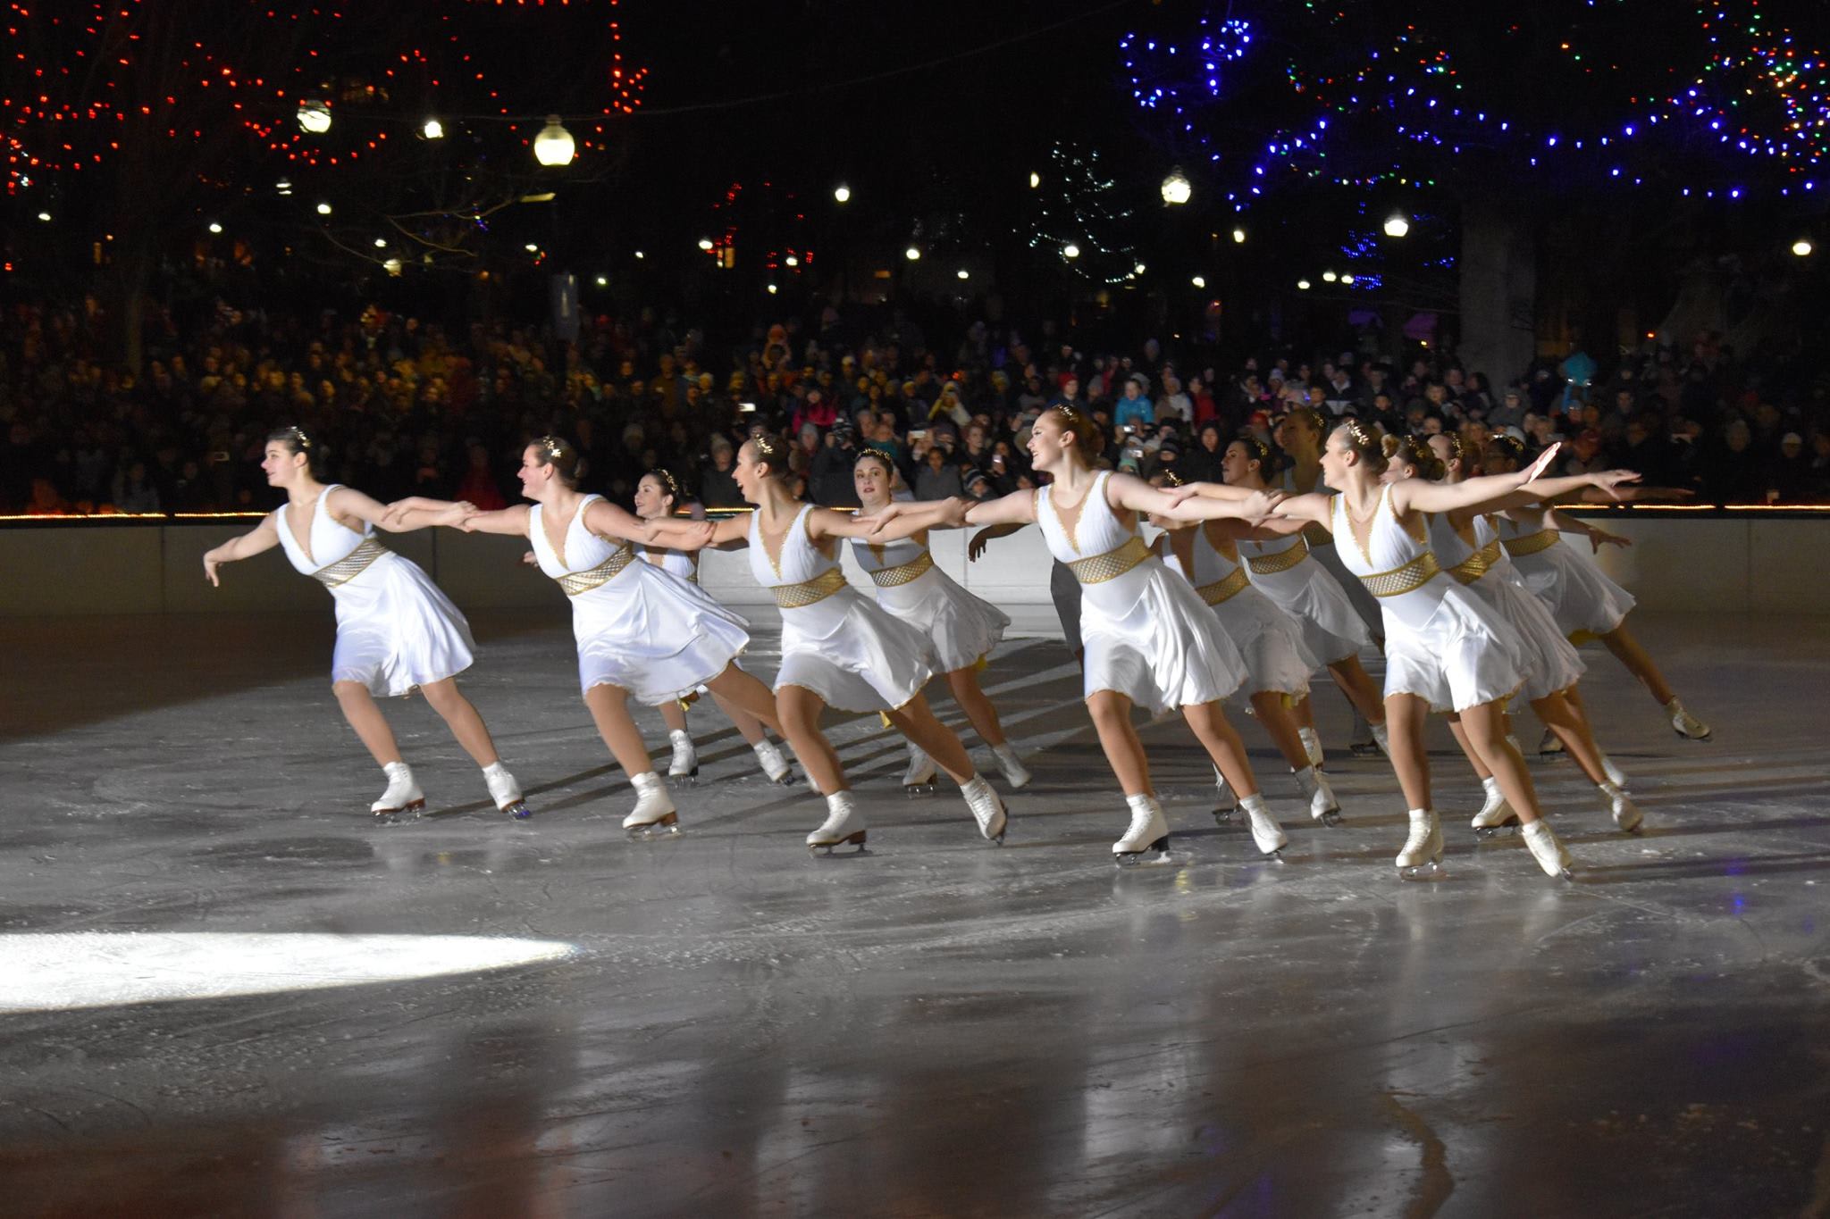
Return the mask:
<path fill-rule="evenodd" d="M 578 687 L 617 685 L 650 707 L 694 693 L 750 645 L 748 621 L 640 559 L 571 603 Z"/>

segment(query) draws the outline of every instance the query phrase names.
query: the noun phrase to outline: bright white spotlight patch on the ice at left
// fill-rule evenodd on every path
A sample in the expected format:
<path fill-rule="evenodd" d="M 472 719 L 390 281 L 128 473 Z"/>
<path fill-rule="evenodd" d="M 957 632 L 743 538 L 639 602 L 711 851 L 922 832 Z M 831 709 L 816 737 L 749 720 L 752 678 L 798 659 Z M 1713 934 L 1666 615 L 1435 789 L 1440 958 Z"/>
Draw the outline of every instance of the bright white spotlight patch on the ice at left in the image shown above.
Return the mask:
<path fill-rule="evenodd" d="M 0 936 L 0 1012 L 322 991 L 562 961 L 556 939 L 242 932 Z"/>

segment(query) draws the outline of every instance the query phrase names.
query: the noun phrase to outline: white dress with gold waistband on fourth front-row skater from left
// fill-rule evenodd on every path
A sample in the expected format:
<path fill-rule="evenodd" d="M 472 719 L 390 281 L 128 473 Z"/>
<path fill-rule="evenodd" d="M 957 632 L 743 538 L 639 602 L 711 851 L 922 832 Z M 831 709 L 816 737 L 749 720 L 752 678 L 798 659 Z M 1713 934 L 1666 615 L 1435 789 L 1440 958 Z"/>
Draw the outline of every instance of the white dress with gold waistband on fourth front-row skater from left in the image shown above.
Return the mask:
<path fill-rule="evenodd" d="M 1080 581 L 1085 696 L 1114 691 L 1151 713 L 1219 702 L 1246 680 L 1246 663 L 1186 579 L 1105 503 L 1102 472 L 1078 517 L 1054 510 L 1054 488 L 1036 492 L 1036 523 L 1049 552 Z"/>

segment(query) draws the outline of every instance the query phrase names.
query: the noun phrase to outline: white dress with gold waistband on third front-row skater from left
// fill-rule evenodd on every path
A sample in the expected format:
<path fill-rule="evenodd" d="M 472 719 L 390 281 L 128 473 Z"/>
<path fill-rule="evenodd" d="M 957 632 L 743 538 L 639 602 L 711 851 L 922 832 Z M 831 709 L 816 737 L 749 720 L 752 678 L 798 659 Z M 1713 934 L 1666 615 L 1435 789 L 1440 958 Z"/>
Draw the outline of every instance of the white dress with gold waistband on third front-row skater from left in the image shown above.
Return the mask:
<path fill-rule="evenodd" d="M 838 711 L 895 711 L 937 673 L 928 636 L 845 583 L 838 563 L 813 545 L 802 506 L 780 557 L 763 546 L 761 512 L 750 514 L 750 572 L 781 607 L 776 689 L 800 685 Z"/>

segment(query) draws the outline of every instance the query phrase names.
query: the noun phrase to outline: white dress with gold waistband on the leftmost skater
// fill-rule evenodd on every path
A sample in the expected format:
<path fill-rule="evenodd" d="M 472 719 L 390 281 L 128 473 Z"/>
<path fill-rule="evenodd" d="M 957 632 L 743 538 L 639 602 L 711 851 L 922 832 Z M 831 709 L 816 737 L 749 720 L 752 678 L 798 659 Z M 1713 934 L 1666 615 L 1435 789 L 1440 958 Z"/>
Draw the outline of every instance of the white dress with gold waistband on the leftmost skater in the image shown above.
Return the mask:
<path fill-rule="evenodd" d="M 468 669 L 476 651 L 470 623 L 417 563 L 375 541 L 371 525 L 357 534 L 331 517 L 324 504 L 339 486 L 318 492 L 311 508 L 311 554 L 293 537 L 285 508 L 274 510 L 285 557 L 322 581 L 337 603 L 331 682 L 406 694 Z"/>

